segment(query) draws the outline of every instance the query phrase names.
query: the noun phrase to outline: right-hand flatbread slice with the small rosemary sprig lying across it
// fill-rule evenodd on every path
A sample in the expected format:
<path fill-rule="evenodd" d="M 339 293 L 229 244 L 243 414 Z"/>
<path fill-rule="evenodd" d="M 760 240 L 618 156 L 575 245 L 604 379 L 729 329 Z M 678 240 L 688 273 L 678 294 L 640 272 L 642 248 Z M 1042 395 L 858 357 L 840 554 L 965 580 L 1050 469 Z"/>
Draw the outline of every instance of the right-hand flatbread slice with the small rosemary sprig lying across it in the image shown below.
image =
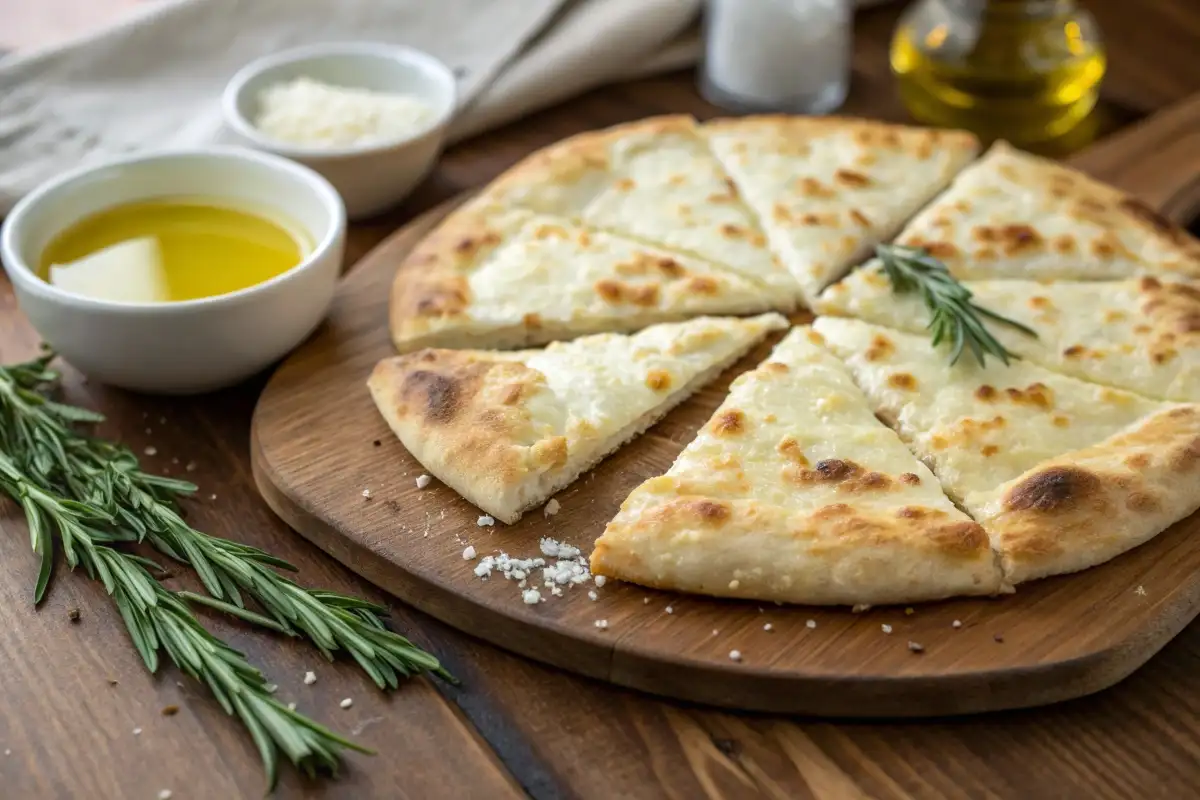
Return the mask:
<path fill-rule="evenodd" d="M 1200 402 L 1200 283 L 1128 281 L 964 281 L 983 308 L 1037 331 L 986 321 L 1009 351 L 1061 372 L 1148 397 Z M 821 295 L 822 314 L 858 317 L 919 333 L 920 295 L 896 294 L 878 264 Z"/>

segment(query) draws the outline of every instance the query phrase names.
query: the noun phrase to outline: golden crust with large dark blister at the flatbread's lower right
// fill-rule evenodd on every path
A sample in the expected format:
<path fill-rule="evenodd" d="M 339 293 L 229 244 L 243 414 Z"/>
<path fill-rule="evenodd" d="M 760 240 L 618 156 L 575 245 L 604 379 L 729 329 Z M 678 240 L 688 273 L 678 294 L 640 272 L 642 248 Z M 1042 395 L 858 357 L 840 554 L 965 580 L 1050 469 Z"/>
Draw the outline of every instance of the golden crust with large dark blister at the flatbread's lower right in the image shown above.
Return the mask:
<path fill-rule="evenodd" d="M 1153 414 L 967 504 L 1010 583 L 1103 564 L 1200 507 L 1200 405 Z"/>

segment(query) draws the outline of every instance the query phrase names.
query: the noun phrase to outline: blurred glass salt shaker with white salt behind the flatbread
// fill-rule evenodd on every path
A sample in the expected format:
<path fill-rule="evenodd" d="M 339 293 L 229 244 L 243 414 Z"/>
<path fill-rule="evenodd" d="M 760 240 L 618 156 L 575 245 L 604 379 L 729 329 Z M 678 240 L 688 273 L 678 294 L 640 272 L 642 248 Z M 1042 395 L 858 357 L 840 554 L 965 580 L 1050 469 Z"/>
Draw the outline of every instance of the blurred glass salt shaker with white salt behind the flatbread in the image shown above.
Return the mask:
<path fill-rule="evenodd" d="M 700 89 L 739 113 L 826 114 L 850 86 L 852 0 L 708 0 Z"/>

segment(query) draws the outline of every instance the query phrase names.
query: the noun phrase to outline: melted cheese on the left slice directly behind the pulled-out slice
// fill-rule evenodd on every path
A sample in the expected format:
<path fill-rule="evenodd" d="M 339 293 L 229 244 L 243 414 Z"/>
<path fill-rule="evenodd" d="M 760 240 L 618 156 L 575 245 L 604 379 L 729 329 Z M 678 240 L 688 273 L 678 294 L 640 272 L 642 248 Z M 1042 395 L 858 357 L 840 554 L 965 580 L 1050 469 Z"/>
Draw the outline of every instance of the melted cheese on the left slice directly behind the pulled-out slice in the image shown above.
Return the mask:
<path fill-rule="evenodd" d="M 512 324 L 533 314 L 594 330 L 666 313 L 754 313 L 779 302 L 755 283 L 700 259 L 557 217 L 516 216 L 523 224 L 468 276 L 468 312 L 476 321 Z"/>

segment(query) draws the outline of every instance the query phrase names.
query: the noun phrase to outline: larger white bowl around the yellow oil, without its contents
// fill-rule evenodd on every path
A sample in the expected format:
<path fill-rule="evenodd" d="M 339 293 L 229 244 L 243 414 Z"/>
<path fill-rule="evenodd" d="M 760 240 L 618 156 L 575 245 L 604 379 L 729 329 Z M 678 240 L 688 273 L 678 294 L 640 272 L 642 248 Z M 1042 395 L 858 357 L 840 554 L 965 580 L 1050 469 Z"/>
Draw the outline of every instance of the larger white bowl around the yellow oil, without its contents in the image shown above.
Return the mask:
<path fill-rule="evenodd" d="M 104 209 L 198 196 L 277 212 L 312 243 L 270 281 L 163 303 L 94 300 L 35 272 L 49 241 Z M 0 229 L 0 259 L 37 332 L 78 369 L 137 391 L 185 395 L 235 384 L 299 344 L 329 311 L 346 243 L 346 210 L 325 179 L 284 158 L 238 148 L 139 155 L 86 167 L 22 199 Z"/>

